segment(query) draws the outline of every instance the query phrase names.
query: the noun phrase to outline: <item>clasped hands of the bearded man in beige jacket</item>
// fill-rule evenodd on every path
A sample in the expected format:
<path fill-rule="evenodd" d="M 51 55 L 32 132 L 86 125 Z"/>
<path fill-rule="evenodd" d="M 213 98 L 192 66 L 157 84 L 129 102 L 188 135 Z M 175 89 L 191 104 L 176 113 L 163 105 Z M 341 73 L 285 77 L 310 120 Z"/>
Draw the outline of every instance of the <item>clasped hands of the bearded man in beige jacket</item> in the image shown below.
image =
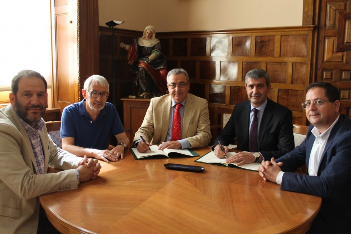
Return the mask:
<path fill-rule="evenodd" d="M 101 165 L 97 159 L 89 158 L 85 155 L 83 160 L 78 163 L 79 181 L 84 182 L 95 179 L 100 173 Z"/>

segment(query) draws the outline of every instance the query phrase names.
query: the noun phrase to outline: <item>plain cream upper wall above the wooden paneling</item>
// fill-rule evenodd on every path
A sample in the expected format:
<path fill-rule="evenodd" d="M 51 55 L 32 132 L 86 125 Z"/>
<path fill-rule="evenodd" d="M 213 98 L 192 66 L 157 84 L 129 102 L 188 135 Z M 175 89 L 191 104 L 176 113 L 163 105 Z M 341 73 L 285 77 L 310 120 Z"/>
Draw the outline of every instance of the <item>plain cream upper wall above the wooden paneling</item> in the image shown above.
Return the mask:
<path fill-rule="evenodd" d="M 302 25 L 303 0 L 99 0 L 99 25 L 156 32 Z"/>

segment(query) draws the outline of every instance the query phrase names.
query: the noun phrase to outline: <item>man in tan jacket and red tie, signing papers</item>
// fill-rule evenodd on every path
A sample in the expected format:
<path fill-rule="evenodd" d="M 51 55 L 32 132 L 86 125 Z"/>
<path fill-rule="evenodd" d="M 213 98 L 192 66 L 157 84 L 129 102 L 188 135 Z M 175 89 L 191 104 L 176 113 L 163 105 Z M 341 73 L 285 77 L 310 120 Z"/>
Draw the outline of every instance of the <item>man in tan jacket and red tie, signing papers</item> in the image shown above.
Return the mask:
<path fill-rule="evenodd" d="M 160 150 L 207 146 L 211 140 L 208 104 L 188 93 L 188 72 L 182 68 L 170 70 L 167 88 L 169 94 L 151 99 L 133 146 L 139 152 L 149 150 L 150 144 L 159 145 Z"/>

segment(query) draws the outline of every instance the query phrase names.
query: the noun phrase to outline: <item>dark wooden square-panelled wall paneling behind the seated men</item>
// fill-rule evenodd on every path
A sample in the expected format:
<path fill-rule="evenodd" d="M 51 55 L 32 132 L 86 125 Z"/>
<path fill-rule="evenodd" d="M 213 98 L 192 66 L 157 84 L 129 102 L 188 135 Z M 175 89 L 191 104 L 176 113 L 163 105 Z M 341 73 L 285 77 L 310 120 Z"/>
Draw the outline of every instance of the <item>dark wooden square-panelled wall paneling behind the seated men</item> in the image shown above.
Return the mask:
<path fill-rule="evenodd" d="M 185 68 L 190 75 L 190 92 L 208 100 L 212 108 L 212 126 L 217 126 L 221 119 L 219 116 L 223 115 L 218 108 L 224 108 L 230 114 L 237 103 L 248 99 L 244 78 L 254 68 L 267 70 L 270 74 L 272 90 L 269 98 L 293 109 L 294 123 L 306 124 L 300 104 L 303 102 L 301 98 L 304 99 L 303 90 L 310 80 L 313 29 L 314 26 L 302 26 L 169 32 L 157 33 L 157 38 L 168 43 L 165 47 L 169 52 L 166 56 L 167 69 Z M 109 30 L 100 27 L 100 35 Z M 116 35 L 140 36 L 121 29 L 116 29 Z M 102 63 L 107 62 L 109 57 L 100 54 L 100 58 L 104 59 L 100 59 Z M 134 80 L 133 74 L 128 72 L 129 65 L 122 62 L 126 60 L 125 55 L 118 58 L 118 63 L 126 66 L 123 79 Z M 287 98 L 287 95 L 300 97 L 296 100 Z M 213 137 L 218 133 L 215 128 L 212 129 Z"/>

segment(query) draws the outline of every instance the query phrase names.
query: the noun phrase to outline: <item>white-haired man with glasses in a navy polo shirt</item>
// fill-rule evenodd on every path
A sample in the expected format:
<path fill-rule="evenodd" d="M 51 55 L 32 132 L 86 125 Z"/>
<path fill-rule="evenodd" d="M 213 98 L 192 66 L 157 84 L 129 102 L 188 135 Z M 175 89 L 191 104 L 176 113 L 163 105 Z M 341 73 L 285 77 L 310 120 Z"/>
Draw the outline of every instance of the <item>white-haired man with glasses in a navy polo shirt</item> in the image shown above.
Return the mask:
<path fill-rule="evenodd" d="M 81 102 L 67 106 L 62 112 L 62 148 L 82 157 L 118 161 L 123 158 L 129 140 L 116 107 L 106 102 L 109 95 L 107 80 L 99 75 L 89 77 L 84 82 L 82 95 Z M 109 150 L 111 134 L 118 144 Z"/>

